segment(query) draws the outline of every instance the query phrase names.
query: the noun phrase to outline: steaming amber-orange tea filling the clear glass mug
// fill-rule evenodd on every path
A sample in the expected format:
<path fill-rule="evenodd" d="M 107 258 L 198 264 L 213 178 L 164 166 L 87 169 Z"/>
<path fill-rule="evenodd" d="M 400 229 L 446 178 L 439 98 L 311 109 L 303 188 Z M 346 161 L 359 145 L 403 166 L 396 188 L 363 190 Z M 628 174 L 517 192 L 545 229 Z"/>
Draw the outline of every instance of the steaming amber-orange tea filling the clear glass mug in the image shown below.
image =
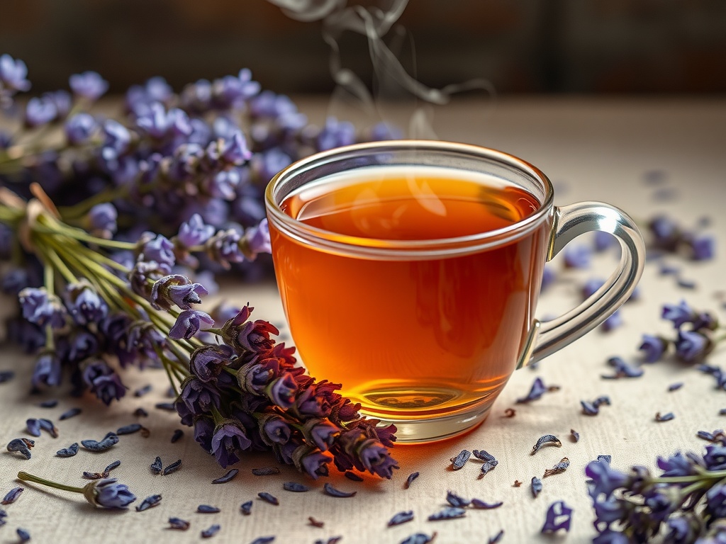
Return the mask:
<path fill-rule="evenodd" d="M 309 226 L 379 247 L 472 236 L 539 208 L 494 178 L 377 168 L 308 184 L 281 209 Z M 549 225 L 491 250 L 409 260 L 311 249 L 273 231 L 290 328 L 314 376 L 343 384 L 368 413 L 422 417 L 481 402 L 507 381 L 537 298 Z"/>

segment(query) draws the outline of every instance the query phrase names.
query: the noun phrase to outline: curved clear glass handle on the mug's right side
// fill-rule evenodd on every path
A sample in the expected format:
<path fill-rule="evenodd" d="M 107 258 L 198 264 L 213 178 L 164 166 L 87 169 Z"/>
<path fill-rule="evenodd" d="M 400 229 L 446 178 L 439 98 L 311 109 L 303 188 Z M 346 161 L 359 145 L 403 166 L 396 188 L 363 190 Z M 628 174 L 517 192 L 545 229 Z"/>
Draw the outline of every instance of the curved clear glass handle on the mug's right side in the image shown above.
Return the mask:
<path fill-rule="evenodd" d="M 618 268 L 603 287 L 582 304 L 552 321 L 539 323 L 539 334 L 534 334 L 537 339 L 531 342 L 534 349 L 527 364 L 555 353 L 603 323 L 628 299 L 643 274 L 645 242 L 635 221 L 622 210 L 602 202 L 555 207 L 547 260 L 555 257 L 576 236 L 591 231 L 609 232 L 618 239 L 621 247 Z M 533 331 L 536 331 L 536 325 Z"/>

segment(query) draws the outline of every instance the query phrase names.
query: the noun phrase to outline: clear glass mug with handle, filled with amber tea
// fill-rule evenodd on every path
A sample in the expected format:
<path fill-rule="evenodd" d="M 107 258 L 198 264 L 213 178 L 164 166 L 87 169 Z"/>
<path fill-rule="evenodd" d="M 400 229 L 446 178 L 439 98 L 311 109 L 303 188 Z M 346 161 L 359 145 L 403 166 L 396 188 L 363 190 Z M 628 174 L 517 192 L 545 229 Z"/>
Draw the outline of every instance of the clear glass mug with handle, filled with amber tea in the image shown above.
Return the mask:
<path fill-rule="evenodd" d="M 480 424 L 516 368 L 605 321 L 643 272 L 625 213 L 553 199 L 533 165 L 444 141 L 340 147 L 282 170 L 265 195 L 272 257 L 310 374 L 396 424 L 399 442 Z M 589 231 L 619 240 L 616 271 L 540 323 L 544 263 Z"/>

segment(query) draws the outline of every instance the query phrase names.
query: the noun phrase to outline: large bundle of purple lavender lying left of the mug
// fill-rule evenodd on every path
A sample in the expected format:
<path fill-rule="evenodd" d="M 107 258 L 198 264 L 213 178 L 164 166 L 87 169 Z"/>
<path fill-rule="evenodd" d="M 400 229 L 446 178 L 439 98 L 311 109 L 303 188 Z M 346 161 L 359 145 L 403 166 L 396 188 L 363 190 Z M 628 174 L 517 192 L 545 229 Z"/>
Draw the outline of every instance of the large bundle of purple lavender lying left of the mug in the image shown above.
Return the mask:
<path fill-rule="evenodd" d="M 314 478 L 330 461 L 391 477 L 393 426 L 307 376 L 252 308 L 194 308 L 216 274 L 264 273 L 265 184 L 305 154 L 353 143 L 353 126 L 310 125 L 248 70 L 180 94 L 153 78 L 115 118 L 91 112 L 107 89 L 97 73 L 20 107 L 26 76 L 0 57 L 15 130 L 0 133 L 1 287 L 20 302 L 8 337 L 37 354 L 33 387 L 68 376 L 109 404 L 126 393 L 124 368 L 163 367 L 182 423 L 221 466 L 270 450 Z"/>

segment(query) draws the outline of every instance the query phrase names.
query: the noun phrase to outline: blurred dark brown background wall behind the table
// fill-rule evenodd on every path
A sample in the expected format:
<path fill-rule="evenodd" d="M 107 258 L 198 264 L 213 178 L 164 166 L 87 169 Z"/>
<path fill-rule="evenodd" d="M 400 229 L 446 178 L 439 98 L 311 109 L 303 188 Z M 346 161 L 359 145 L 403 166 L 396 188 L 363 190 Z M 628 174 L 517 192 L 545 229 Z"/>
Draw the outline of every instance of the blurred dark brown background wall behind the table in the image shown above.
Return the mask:
<path fill-rule="evenodd" d="M 724 0 L 411 0 L 400 23 L 431 86 L 481 77 L 501 94 L 726 91 Z M 0 53 L 28 64 L 33 91 L 67 88 L 81 70 L 123 91 L 152 75 L 179 89 L 249 67 L 274 91 L 327 92 L 320 30 L 266 0 L 2 0 Z M 364 40 L 342 45 L 367 78 Z"/>

